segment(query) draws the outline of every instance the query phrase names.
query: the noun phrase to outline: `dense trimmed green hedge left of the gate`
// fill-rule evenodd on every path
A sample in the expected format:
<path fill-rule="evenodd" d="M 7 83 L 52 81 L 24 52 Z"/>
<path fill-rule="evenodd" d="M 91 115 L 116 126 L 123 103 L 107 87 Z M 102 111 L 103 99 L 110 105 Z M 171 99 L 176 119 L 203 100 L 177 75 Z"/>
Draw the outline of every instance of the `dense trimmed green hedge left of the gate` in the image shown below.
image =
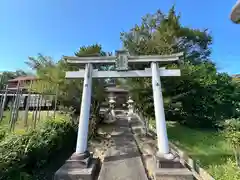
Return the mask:
<path fill-rule="evenodd" d="M 69 118 L 49 119 L 35 130 L 10 134 L 0 142 L 0 180 L 50 179 L 73 152 L 76 128 Z"/>

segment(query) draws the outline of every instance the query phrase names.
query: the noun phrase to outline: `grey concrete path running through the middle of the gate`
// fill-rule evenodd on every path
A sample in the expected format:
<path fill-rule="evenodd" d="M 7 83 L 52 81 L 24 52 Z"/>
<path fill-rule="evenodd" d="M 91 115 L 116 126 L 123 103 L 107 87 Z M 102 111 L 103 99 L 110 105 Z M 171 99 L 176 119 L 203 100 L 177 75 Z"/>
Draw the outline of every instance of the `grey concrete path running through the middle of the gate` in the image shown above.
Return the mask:
<path fill-rule="evenodd" d="M 111 140 L 113 144 L 105 153 L 98 180 L 147 180 L 126 115 L 119 115 Z"/>

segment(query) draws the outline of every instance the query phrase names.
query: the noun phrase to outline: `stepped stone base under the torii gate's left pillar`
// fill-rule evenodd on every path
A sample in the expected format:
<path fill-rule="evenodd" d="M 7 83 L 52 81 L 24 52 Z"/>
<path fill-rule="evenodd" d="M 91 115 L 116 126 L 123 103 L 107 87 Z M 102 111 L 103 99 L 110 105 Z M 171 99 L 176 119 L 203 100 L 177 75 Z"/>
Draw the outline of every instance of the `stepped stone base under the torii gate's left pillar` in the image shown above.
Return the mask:
<path fill-rule="evenodd" d="M 57 170 L 54 180 L 93 180 L 99 170 L 99 159 L 94 159 L 88 152 L 73 154 Z"/>

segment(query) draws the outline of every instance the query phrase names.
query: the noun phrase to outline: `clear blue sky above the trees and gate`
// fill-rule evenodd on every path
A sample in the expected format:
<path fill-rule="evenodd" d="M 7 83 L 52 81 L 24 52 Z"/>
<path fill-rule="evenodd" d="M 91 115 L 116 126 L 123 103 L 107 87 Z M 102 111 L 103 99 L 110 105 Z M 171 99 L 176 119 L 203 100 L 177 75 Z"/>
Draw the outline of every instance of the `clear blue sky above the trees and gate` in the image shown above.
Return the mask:
<path fill-rule="evenodd" d="M 240 25 L 229 19 L 236 0 L 1 0 L 0 71 L 28 70 L 24 62 L 37 53 L 58 60 L 93 43 L 119 49 L 120 32 L 173 3 L 184 25 L 210 30 L 218 69 L 240 73 Z"/>

